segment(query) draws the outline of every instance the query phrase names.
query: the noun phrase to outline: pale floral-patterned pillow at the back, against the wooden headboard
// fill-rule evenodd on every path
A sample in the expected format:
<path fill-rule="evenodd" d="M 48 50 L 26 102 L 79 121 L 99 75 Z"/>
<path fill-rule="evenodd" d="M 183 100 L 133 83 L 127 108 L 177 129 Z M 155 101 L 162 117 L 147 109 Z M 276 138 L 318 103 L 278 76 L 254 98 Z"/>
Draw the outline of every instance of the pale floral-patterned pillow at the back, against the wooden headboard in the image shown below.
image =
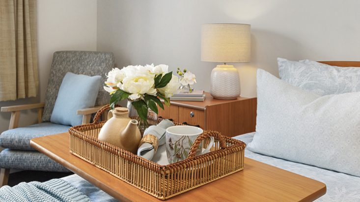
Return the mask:
<path fill-rule="evenodd" d="M 321 96 L 360 91 L 360 68 L 283 58 L 277 58 L 277 64 L 282 80 Z"/>

